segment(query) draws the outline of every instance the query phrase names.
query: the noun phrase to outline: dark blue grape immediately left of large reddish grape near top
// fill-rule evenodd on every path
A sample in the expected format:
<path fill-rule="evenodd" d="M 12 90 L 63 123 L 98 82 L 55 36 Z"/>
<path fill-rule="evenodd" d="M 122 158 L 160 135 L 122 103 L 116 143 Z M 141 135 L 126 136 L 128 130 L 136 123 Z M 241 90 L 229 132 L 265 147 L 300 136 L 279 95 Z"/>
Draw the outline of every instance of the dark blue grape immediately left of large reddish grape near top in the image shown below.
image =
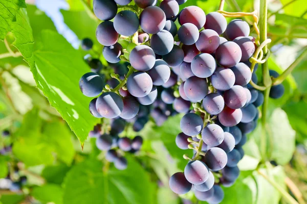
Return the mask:
<path fill-rule="evenodd" d="M 140 21 L 137 16 L 132 11 L 120 11 L 116 14 L 114 18 L 114 29 L 117 33 L 124 36 L 133 35 L 138 31 L 140 26 Z"/>

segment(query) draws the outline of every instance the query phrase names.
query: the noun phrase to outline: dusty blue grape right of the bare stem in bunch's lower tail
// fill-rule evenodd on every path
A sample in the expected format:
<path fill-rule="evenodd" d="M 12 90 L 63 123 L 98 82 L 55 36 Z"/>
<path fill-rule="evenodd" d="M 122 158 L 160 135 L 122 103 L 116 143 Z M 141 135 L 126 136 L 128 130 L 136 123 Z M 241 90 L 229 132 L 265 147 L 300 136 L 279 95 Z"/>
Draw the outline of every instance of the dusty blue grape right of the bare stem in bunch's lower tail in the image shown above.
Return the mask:
<path fill-rule="evenodd" d="M 209 146 L 217 146 L 224 140 L 224 131 L 217 124 L 208 124 L 202 131 L 202 138 Z"/>

